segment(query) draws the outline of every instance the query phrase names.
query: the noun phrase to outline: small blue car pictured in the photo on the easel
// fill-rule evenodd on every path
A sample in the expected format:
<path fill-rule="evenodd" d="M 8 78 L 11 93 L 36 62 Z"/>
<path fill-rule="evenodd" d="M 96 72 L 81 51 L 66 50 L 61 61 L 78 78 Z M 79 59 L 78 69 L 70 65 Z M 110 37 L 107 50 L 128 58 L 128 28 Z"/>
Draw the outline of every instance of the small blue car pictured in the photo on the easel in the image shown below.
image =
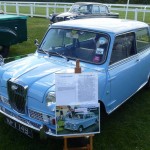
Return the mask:
<path fill-rule="evenodd" d="M 76 113 L 74 118 L 67 119 L 64 128 L 72 131 L 82 132 L 83 129 L 98 123 L 99 119 L 93 112 Z"/>

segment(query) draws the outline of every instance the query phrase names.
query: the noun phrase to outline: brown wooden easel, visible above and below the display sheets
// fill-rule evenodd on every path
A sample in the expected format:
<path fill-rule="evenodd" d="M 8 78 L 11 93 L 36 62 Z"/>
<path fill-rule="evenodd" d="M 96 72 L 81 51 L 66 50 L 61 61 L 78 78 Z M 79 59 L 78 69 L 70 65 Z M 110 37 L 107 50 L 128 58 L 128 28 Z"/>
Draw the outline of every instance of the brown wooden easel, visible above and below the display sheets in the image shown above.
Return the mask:
<path fill-rule="evenodd" d="M 76 60 L 76 67 L 75 67 L 75 73 L 81 73 L 80 68 L 80 62 L 79 60 Z M 64 137 L 64 150 L 93 150 L 93 134 L 88 135 L 89 136 L 89 143 L 86 146 L 81 147 L 72 147 L 68 148 L 68 139 L 70 138 L 81 138 L 81 137 L 87 137 L 87 135 L 80 135 L 80 136 L 65 136 Z"/>

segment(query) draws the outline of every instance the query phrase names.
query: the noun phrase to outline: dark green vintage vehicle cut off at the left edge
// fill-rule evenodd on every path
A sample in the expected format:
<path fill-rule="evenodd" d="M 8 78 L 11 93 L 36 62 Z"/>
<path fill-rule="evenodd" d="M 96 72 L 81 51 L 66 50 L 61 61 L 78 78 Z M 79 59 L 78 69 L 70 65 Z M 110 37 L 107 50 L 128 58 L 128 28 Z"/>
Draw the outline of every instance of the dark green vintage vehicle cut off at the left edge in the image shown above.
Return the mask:
<path fill-rule="evenodd" d="M 7 57 L 13 44 L 27 40 L 27 17 L 0 14 L 0 55 Z"/>

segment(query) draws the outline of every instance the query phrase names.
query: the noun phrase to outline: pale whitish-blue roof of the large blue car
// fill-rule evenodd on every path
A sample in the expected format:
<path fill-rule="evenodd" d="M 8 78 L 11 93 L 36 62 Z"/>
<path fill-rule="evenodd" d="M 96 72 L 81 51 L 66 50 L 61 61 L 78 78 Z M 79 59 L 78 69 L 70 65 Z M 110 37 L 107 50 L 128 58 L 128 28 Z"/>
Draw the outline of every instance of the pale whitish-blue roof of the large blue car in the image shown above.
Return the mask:
<path fill-rule="evenodd" d="M 52 27 L 88 29 L 95 31 L 110 32 L 114 34 L 128 32 L 138 28 L 148 27 L 144 22 L 116 18 L 89 18 L 62 21 L 54 23 Z"/>

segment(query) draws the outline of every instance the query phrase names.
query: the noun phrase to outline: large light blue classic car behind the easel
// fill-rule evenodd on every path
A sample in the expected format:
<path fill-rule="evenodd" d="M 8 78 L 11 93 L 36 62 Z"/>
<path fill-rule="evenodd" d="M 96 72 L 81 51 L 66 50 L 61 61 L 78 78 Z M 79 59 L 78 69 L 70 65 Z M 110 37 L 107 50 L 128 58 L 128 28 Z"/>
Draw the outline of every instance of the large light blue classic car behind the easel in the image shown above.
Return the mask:
<path fill-rule="evenodd" d="M 77 59 L 82 73 L 98 75 L 100 107 L 110 114 L 150 87 L 150 28 L 115 18 L 52 24 L 33 55 L 5 64 L 1 58 L 0 113 L 7 123 L 55 136 L 55 74 L 73 73 Z"/>

